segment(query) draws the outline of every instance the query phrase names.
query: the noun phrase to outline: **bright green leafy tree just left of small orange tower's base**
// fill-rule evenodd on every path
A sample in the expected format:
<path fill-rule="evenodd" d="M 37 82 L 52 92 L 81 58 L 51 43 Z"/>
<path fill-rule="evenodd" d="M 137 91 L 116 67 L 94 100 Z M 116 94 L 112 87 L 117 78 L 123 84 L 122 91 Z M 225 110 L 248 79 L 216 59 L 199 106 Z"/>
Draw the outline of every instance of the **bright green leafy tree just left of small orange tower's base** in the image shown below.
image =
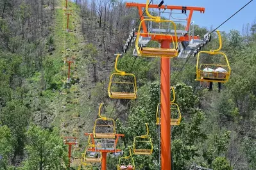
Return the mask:
<path fill-rule="evenodd" d="M 42 129 L 37 125 L 30 125 L 26 152 L 28 158 L 23 162 L 23 169 L 64 169 L 67 164 L 67 147 L 63 143 L 56 128 Z"/>

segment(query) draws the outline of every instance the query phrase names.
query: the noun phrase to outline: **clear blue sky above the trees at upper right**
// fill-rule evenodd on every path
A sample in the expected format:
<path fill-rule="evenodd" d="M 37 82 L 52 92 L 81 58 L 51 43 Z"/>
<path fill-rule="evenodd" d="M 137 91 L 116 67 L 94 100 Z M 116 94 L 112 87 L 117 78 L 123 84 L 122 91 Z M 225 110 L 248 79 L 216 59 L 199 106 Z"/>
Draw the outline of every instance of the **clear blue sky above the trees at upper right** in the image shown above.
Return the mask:
<path fill-rule="evenodd" d="M 126 1 L 146 3 L 146 0 Z M 158 4 L 160 1 L 161 0 L 153 0 L 153 3 Z M 164 1 L 164 4 L 203 7 L 205 8 L 205 13 L 193 12 L 192 20 L 194 20 L 195 24 L 198 24 L 200 27 L 207 27 L 209 29 L 210 26 L 212 26 L 215 29 L 249 1 L 250 0 L 166 0 Z M 232 19 L 219 27 L 219 30 L 229 32 L 230 29 L 236 29 L 242 31 L 243 25 L 250 24 L 251 26 L 253 21 L 256 24 L 256 0 L 252 1 L 243 8 L 243 10 L 232 17 Z"/>

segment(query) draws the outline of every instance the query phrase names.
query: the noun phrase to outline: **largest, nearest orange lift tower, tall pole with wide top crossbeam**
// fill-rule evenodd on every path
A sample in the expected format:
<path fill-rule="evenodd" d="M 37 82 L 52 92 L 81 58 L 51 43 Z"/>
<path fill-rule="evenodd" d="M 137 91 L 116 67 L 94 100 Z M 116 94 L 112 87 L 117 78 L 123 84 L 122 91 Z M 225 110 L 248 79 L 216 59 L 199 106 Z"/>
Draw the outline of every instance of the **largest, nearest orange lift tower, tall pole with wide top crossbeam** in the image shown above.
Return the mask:
<path fill-rule="evenodd" d="M 126 3 L 126 7 L 137 7 L 139 10 L 139 15 L 141 20 L 144 20 L 142 16 L 142 8 L 146 8 L 147 4 L 141 3 Z M 157 9 L 170 9 L 170 10 L 182 10 L 182 13 L 186 13 L 187 10 L 190 11 L 189 17 L 187 17 L 187 24 L 185 31 L 189 31 L 189 26 L 191 24 L 192 13 L 194 11 L 205 12 L 205 8 L 199 7 L 190 7 L 190 6 L 160 6 L 157 4 L 149 4 L 148 8 L 157 8 Z M 146 9 L 147 10 L 147 9 Z M 148 31 L 146 24 L 142 23 L 143 33 L 141 36 L 147 36 Z M 173 42 L 173 36 L 155 36 L 151 38 L 153 41 L 158 41 L 161 44 L 162 49 L 169 49 L 170 43 Z M 196 37 L 194 37 L 196 38 Z M 179 36 L 178 42 L 184 40 L 189 40 L 188 37 Z M 161 58 L 161 169 L 162 170 L 171 170 L 171 112 L 170 112 L 170 59 Z"/>

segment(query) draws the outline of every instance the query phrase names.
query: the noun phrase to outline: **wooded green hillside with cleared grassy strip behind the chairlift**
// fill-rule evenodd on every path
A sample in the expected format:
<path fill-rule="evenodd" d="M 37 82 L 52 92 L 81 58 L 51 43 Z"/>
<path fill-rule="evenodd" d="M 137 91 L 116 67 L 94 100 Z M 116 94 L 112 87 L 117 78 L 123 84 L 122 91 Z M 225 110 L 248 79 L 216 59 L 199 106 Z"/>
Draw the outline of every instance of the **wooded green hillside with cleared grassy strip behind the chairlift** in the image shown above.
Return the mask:
<path fill-rule="evenodd" d="M 76 139 L 71 169 L 78 169 L 88 145 L 85 133 L 92 133 L 100 103 L 102 116 L 113 118 L 116 133 L 125 135 L 117 145 L 123 156 L 129 155 L 135 136 L 146 134 L 148 123 L 153 153 L 133 159 L 136 169 L 158 169 L 160 59 L 133 56 L 131 45 L 117 66 L 135 75 L 137 99 L 109 98 L 107 91 L 115 54 L 123 52 L 133 27 L 138 29 L 137 9 L 126 8 L 123 1 L 98 0 L 69 1 L 67 8 L 65 1 L 56 0 L 0 4 L 0 169 L 68 169 L 67 137 Z M 221 33 L 221 52 L 232 70 L 221 93 L 216 82 L 209 91 L 207 84 L 194 81 L 196 57 L 171 59 L 171 86 L 182 114 L 180 125 L 171 128 L 175 169 L 189 169 L 193 162 L 214 170 L 256 169 L 255 27 L 252 23 L 243 35 Z M 195 26 L 194 34 L 210 31 Z M 218 47 L 212 33 L 201 50 Z M 118 163 L 119 157 L 108 154 L 107 169 Z M 101 169 L 101 164 L 93 168 Z"/>

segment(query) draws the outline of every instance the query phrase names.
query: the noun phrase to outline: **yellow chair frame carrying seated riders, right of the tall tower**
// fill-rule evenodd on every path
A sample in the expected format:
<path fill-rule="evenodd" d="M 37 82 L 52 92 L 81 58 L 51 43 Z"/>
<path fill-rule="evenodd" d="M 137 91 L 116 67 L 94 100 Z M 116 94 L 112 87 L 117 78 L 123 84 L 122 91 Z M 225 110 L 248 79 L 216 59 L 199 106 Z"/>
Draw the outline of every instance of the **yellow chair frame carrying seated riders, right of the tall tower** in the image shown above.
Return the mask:
<path fill-rule="evenodd" d="M 228 58 L 226 57 L 226 54 L 223 52 L 219 52 L 222 47 L 222 41 L 221 41 L 221 34 L 219 31 L 216 31 L 218 36 L 219 36 L 219 49 L 216 50 L 210 50 L 210 51 L 200 51 L 198 53 L 198 59 L 196 62 L 196 81 L 205 81 L 205 82 L 227 82 L 230 73 L 231 73 L 231 68 L 228 63 Z M 199 64 L 199 59 L 200 59 L 200 54 L 210 54 L 210 55 L 216 55 L 219 54 L 221 56 L 224 56 L 226 60 L 226 65 L 212 65 L 212 64 Z M 221 66 L 221 67 L 227 67 L 228 70 L 227 72 L 205 72 L 203 69 L 201 69 L 203 66 Z"/>

